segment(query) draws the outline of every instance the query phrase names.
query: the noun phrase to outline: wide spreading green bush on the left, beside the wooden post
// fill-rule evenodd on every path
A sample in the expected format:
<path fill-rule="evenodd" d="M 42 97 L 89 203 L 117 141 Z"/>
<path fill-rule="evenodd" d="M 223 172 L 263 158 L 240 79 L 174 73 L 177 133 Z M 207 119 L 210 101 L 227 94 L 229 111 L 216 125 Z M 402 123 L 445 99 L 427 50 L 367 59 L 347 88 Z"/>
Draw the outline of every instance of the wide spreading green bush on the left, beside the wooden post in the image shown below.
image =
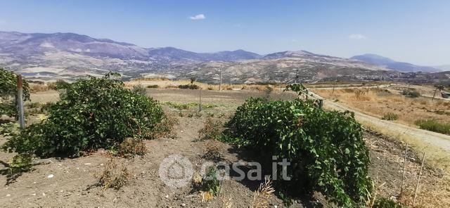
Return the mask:
<path fill-rule="evenodd" d="M 4 150 L 79 155 L 85 150 L 108 148 L 124 138 L 148 138 L 165 117 L 157 101 L 124 89 L 105 77 L 79 79 L 60 91 L 60 101 L 49 107 L 49 117 L 13 135 Z"/>

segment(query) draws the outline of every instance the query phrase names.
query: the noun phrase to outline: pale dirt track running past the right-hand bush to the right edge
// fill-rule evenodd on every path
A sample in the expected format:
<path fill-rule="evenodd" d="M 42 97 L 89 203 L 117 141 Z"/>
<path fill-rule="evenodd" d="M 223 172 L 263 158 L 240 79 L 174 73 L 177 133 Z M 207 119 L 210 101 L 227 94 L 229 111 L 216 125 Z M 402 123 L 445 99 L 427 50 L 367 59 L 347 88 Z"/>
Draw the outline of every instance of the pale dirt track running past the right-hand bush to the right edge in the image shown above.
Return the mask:
<path fill-rule="evenodd" d="M 382 120 L 371 115 L 366 115 L 363 112 L 359 112 L 358 110 L 349 108 L 342 103 L 336 103 L 331 100 L 326 100 L 325 98 L 322 98 L 315 93 L 312 94 L 317 98 L 323 99 L 323 105 L 326 108 L 340 111 L 352 111 L 354 112 L 356 120 L 358 120 L 359 122 L 362 122 L 364 124 L 371 124 L 371 126 L 376 126 L 380 129 L 384 129 L 385 131 L 389 131 L 391 134 L 390 136 L 406 136 L 413 140 L 421 141 L 426 145 L 440 148 L 450 154 L 450 136 L 448 135 L 426 131 L 423 129 L 417 129 L 411 126 L 406 126 L 404 124 L 399 124 L 397 122 Z"/>

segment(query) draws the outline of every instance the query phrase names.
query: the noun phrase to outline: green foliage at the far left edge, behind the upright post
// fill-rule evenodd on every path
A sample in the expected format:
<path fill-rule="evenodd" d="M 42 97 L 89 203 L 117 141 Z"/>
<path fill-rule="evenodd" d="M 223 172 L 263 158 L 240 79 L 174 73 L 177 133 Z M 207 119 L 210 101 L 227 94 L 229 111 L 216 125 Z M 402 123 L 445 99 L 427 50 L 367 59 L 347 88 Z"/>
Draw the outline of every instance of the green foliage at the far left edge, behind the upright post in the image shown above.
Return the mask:
<path fill-rule="evenodd" d="M 15 97 L 17 95 L 17 75 L 0 68 L 0 116 L 17 116 Z M 23 79 L 23 100 L 30 100 L 30 86 Z"/>

